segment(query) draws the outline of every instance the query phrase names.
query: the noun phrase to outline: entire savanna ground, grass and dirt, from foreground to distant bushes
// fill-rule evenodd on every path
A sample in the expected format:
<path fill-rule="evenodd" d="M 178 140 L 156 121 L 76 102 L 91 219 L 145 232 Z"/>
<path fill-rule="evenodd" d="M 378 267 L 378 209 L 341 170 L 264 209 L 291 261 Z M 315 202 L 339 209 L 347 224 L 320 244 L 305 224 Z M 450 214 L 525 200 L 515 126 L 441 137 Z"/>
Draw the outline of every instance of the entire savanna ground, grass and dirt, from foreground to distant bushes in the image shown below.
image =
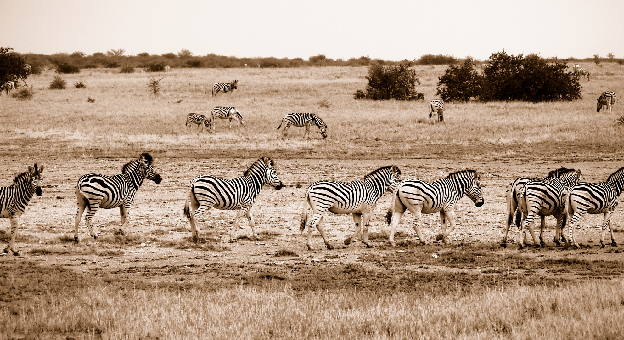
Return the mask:
<path fill-rule="evenodd" d="M 0 185 L 32 163 L 45 167 L 44 192 L 20 219 L 19 256 L 0 257 L 0 339 L 622 339 L 622 208 L 613 217 L 617 246 L 600 247 L 602 215 L 580 221 L 578 250 L 555 247 L 552 217 L 545 248 L 519 251 L 515 227 L 514 243 L 499 246 L 514 178 L 568 167 L 601 182 L 624 166 L 621 104 L 596 112 L 603 91 L 622 93 L 624 67 L 586 67 L 592 80 L 580 80 L 581 100 L 449 102 L 446 124 L 436 125 L 427 103 L 441 66 L 416 67 L 424 102 L 354 100 L 365 67 L 83 69 L 61 75 L 64 90 L 47 89 L 52 71 L 31 75 L 32 100 L 0 97 Z M 164 77 L 157 97 L 146 87 L 151 76 Z M 213 82 L 234 79 L 232 95 L 211 97 Z M 215 106 L 236 107 L 246 127 L 222 120 L 209 134 L 184 125 L 187 114 Z M 313 127 L 306 140 L 291 127 L 282 140 L 276 127 L 290 112 L 318 114 L 329 137 Z M 163 180 L 137 192 L 125 235 L 113 236 L 119 210 L 100 209 L 100 237 L 90 238 L 83 220 L 74 244 L 76 180 L 120 173 L 141 152 Z M 241 221 L 228 244 L 235 212 L 211 210 L 200 218 L 200 241 L 190 241 L 188 181 L 240 176 L 262 156 L 275 160 L 286 187 L 258 195 L 261 240 Z M 438 215 L 421 220 L 429 245 L 420 245 L 406 213 L 392 248 L 386 193 L 369 230 L 373 248 L 343 246 L 353 219 L 328 213 L 335 249 L 315 231 L 308 251 L 299 230 L 306 187 L 362 179 L 385 165 L 404 179 L 478 170 L 485 205 L 462 198 L 449 245 L 435 240 Z M 6 245 L 9 221 L 0 223 Z"/>

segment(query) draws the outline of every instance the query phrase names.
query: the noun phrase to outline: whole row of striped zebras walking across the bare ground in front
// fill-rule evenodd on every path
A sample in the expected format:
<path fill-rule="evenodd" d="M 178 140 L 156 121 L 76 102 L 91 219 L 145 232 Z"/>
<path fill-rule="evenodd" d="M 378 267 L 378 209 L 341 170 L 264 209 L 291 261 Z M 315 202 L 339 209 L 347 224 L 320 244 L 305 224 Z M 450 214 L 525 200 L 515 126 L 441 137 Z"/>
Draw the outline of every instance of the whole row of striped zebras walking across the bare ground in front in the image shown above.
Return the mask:
<path fill-rule="evenodd" d="M 43 178 L 41 173 L 44 167 L 28 167 L 26 172 L 17 175 L 13 184 L 0 188 L 0 218 L 9 218 L 11 221 L 11 240 L 4 249 L 14 256 L 19 255 L 15 249 L 15 238 L 18 230 L 19 217 L 26 211 L 26 205 L 32 196 L 42 194 Z M 519 248 L 522 250 L 527 243 L 526 231 L 529 230 L 535 248 L 544 246 L 544 218 L 553 215 L 557 218 L 557 231 L 554 242 L 560 245 L 565 242 L 565 248 L 570 245 L 579 247 L 574 238 L 574 225 L 583 215 L 602 213 L 605 217 L 602 225 L 600 243 L 605 247 L 605 233 L 611 231 L 611 245 L 616 246 L 613 236 L 613 212 L 618 206 L 618 197 L 624 188 L 624 167 L 613 172 L 607 180 L 600 183 L 578 182 L 581 170 L 573 168 L 559 168 L 552 170 L 545 178 L 519 177 L 509 184 L 505 196 L 507 198 L 507 228 L 501 246 L 507 246 L 507 233 L 516 215 L 516 225 L 522 228 L 522 240 L 519 239 Z M 137 190 L 144 180 L 149 179 L 158 184 L 162 177 L 154 168 L 154 160 L 149 153 L 141 153 L 138 158 L 131 160 L 122 167 L 122 173 L 114 176 L 89 173 L 76 182 L 76 197 L 78 211 L 74 226 L 74 241 L 78 243 L 78 226 L 84 210 L 87 209 L 85 222 L 89 234 L 97 238 L 93 229 L 93 216 L 98 208 L 119 208 L 121 226 L 115 235 L 124 235 L 128 225 L 130 204 L 134 201 Z M 390 245 L 395 246 L 394 233 L 406 210 L 412 213 L 412 226 L 419 241 L 426 245 L 420 229 L 421 214 L 439 213 L 441 233 L 436 240 L 449 243 L 449 235 L 456 227 L 455 208 L 459 200 L 467 196 L 475 206 L 484 205 L 479 183 L 480 175 L 475 170 L 460 170 L 449 173 L 446 178 L 433 182 L 426 182 L 415 178 L 401 180 L 401 170 L 396 165 L 378 168 L 363 180 L 352 182 L 336 182 L 319 180 L 312 183 L 306 190 L 303 211 L 301 213 L 301 233 L 308 228 L 308 250 L 313 250 L 311 233 L 316 228 L 327 248 L 333 249 L 323 228 L 323 217 L 327 211 L 334 214 L 353 214 L 355 223 L 354 233 L 344 240 L 349 245 L 363 232 L 363 243 L 371 247 L 368 241 L 369 222 L 375 206 L 384 192 L 392 193 L 392 200 L 386 213 L 386 221 L 390 225 Z M 233 231 L 238 230 L 238 223 L 246 216 L 251 233 L 255 240 L 260 240 L 255 231 L 255 223 L 251 214 L 251 206 L 256 200 L 263 186 L 267 184 L 276 190 L 285 185 L 278 178 L 275 162 L 270 157 L 260 157 L 245 170 L 243 176 L 231 180 L 212 175 L 198 175 L 190 180 L 185 197 L 183 215 L 190 221 L 192 240 L 199 241 L 197 224 L 198 218 L 212 208 L 220 210 L 238 210 L 232 229 L 228 234 L 229 242 L 234 241 Z M 308 218 L 307 206 L 310 206 L 312 215 Z M 540 237 L 535 237 L 532 221 L 540 216 Z M 447 229 L 447 223 L 449 228 Z M 563 228 L 567 225 L 567 238 L 563 236 Z"/>

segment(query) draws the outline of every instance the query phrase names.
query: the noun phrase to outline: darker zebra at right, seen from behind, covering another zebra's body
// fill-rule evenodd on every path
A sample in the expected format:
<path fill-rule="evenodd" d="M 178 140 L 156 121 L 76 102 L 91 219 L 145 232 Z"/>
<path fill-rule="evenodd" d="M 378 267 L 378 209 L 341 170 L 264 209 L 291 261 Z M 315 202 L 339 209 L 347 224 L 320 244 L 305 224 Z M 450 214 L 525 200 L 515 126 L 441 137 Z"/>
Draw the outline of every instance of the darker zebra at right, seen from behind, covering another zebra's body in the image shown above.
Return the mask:
<path fill-rule="evenodd" d="M 555 170 L 558 175 L 555 178 L 548 180 L 532 180 L 527 182 L 522 187 L 520 192 L 520 204 L 518 209 L 522 210 L 524 214 L 524 221 L 522 223 L 522 236 L 526 236 L 527 228 L 533 238 L 533 244 L 535 248 L 544 246 L 544 239 L 542 233 L 544 229 L 540 230 L 540 241 L 535 238 L 535 231 L 530 225 L 535 220 L 535 216 L 550 216 L 554 215 L 557 218 L 557 232 L 555 233 L 555 240 L 558 240 L 562 234 L 562 228 L 565 226 L 567 220 L 565 216 L 565 201 L 563 195 L 568 190 L 570 185 L 578 182 L 578 178 L 581 175 L 581 170 L 560 168 Z M 517 211 L 520 213 L 520 211 Z M 542 226 L 543 227 L 543 226 Z M 555 241 L 556 242 L 556 241 Z M 519 243 L 519 249 L 524 249 L 522 242 Z"/>

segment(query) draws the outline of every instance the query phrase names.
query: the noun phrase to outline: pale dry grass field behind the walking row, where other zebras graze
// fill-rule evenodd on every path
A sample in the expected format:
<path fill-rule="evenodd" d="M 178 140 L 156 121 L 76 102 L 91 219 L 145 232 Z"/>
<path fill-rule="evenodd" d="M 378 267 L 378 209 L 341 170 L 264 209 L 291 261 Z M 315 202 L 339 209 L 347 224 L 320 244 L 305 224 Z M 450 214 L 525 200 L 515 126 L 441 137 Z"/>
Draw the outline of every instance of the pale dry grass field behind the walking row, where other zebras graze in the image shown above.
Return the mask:
<path fill-rule="evenodd" d="M 296 152 L 309 158 L 489 159 L 522 157 L 534 153 L 534 148 L 555 158 L 593 157 L 620 153 L 624 146 L 624 129 L 614 122 L 621 115 L 618 105 L 612 115 L 595 112 L 596 98 L 603 90 L 621 92 L 624 67 L 603 65 L 592 70 L 591 82 L 582 81 L 582 100 L 448 103 L 446 125 L 423 120 L 426 102 L 434 98 L 437 77 L 444 72 L 442 66 L 416 67 L 422 82 L 417 90 L 425 93 L 425 102 L 354 100 L 354 90 L 366 83 L 365 67 L 180 69 L 161 81 L 158 98 L 149 95 L 147 75 L 141 73 L 82 70 L 64 77 L 68 82 L 84 79 L 89 82 L 87 89 L 49 90 L 52 74 L 46 71 L 29 78 L 38 90 L 37 100 L 0 100 L 0 119 L 11 122 L 0 127 L 0 143 L 19 145 L 21 140 L 49 138 L 19 152 L 95 157 L 137 150 L 172 157 L 202 155 L 208 152 L 203 145 L 210 145 L 211 155 L 251 158 L 258 153 Z M 230 99 L 210 97 L 210 85 L 223 79 L 239 79 L 238 90 Z M 97 103 L 85 102 L 87 96 L 97 97 Z M 247 127 L 225 128 L 212 135 L 187 134 L 184 120 L 189 112 L 208 113 L 217 105 L 237 107 Z M 316 137 L 310 141 L 301 140 L 303 129 L 292 129 L 291 139 L 282 141 L 275 128 L 288 112 L 320 115 L 329 126 L 329 139 L 312 134 Z M 44 118 L 45 124 L 36 123 Z M 553 144 L 563 147 L 559 154 L 552 155 Z"/>

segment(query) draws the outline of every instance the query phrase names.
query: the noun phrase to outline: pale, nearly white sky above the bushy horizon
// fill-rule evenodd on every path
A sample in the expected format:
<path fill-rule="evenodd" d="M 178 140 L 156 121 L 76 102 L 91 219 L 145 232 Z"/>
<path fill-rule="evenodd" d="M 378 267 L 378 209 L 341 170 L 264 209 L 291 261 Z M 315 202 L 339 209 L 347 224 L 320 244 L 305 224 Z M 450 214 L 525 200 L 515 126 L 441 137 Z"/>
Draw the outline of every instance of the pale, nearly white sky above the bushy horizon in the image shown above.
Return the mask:
<path fill-rule="evenodd" d="M 0 46 L 16 52 L 215 53 L 400 61 L 624 57 L 624 0 L 0 0 Z"/>

